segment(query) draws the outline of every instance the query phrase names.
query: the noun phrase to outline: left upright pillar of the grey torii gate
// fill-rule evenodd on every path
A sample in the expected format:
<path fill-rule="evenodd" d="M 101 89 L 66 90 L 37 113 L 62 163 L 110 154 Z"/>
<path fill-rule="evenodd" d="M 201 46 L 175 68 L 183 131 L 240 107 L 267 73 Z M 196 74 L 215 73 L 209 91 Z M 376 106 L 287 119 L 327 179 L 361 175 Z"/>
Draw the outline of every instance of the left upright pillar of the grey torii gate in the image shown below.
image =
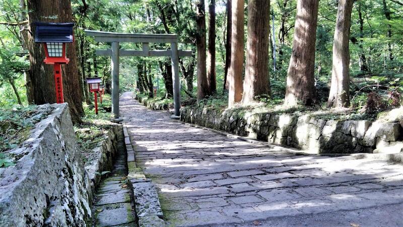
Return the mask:
<path fill-rule="evenodd" d="M 119 118 L 119 42 L 112 42 L 112 113 Z"/>

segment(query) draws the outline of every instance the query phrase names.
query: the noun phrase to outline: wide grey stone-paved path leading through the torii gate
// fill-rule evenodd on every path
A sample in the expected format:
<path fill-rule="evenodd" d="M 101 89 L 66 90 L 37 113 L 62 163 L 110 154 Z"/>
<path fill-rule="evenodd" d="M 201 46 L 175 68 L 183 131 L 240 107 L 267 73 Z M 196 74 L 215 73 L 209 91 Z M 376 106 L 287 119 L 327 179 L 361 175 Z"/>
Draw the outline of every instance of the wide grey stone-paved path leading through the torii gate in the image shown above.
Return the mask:
<path fill-rule="evenodd" d="M 403 226 L 401 164 L 289 154 L 171 120 L 130 93 L 121 112 L 170 226 Z"/>

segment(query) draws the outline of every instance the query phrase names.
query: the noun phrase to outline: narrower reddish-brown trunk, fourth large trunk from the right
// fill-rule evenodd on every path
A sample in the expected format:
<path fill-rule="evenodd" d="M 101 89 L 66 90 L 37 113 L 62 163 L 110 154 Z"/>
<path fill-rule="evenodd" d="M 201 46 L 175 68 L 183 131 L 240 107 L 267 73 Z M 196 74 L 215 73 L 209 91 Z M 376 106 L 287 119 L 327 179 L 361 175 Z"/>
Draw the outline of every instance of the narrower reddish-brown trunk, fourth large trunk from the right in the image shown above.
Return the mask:
<path fill-rule="evenodd" d="M 231 65 L 228 71 L 228 107 L 242 100 L 244 41 L 244 0 L 232 1 Z"/>

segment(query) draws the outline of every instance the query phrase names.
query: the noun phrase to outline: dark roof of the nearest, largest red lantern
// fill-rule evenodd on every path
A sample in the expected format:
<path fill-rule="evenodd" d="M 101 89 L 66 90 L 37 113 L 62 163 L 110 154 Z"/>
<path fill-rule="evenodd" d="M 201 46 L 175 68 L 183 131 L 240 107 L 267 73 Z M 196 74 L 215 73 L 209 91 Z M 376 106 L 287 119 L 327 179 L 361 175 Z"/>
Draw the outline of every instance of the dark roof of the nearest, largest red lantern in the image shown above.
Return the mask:
<path fill-rule="evenodd" d="M 35 22 L 35 42 L 73 42 L 74 23 Z"/>

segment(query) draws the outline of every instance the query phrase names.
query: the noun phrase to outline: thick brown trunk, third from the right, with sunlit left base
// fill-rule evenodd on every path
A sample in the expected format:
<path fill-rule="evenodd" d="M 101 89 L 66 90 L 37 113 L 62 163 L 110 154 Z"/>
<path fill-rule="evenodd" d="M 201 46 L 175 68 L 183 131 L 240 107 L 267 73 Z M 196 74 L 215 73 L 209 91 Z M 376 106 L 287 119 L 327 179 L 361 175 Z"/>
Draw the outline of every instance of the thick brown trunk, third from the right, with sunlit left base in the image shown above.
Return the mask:
<path fill-rule="evenodd" d="M 271 95 L 268 74 L 270 42 L 270 1 L 248 1 L 248 40 L 242 103 L 256 96 Z"/>

